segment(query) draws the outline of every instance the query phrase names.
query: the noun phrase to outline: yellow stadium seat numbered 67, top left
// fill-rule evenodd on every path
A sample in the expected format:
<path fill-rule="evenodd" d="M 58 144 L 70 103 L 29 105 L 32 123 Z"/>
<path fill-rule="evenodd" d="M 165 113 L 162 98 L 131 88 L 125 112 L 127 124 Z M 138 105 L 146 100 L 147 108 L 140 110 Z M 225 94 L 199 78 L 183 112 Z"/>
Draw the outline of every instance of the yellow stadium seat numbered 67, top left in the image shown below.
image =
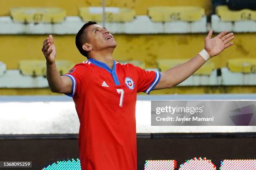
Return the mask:
<path fill-rule="evenodd" d="M 15 7 L 10 9 L 14 22 L 61 23 L 66 11 L 58 7 Z"/>

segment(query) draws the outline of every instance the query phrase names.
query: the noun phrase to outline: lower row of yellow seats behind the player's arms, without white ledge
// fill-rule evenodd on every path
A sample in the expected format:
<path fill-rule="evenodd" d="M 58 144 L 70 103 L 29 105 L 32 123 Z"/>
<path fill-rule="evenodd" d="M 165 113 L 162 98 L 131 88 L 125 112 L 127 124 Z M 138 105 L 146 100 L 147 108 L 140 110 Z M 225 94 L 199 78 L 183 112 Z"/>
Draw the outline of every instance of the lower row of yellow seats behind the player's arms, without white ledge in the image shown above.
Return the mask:
<path fill-rule="evenodd" d="M 146 70 L 157 70 L 166 71 L 171 67 L 180 65 L 189 59 L 160 59 L 156 60 L 156 67 L 147 69 L 144 62 L 140 60 L 120 60 L 121 64 L 131 63 L 142 69 Z M 74 66 L 74 63 L 69 60 L 57 60 L 56 66 L 61 75 L 67 73 L 70 68 Z M 256 73 L 256 59 L 253 58 L 236 58 L 227 61 L 227 68 L 233 73 Z M 197 70 L 194 75 L 211 75 L 212 71 L 218 69 L 215 64 L 211 61 L 206 62 L 199 70 Z M 19 70 L 23 75 L 30 75 L 32 77 L 45 76 L 46 75 L 46 65 L 45 60 L 20 60 Z M 6 65 L 0 62 L 0 76 L 3 76 L 6 71 Z"/>

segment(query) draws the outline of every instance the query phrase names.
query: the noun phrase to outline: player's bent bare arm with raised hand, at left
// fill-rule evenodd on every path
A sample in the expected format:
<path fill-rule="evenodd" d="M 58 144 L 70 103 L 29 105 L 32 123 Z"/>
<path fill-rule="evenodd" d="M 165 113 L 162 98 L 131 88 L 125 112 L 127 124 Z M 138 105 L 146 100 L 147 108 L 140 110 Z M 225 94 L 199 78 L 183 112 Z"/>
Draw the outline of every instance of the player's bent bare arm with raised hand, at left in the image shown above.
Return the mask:
<path fill-rule="evenodd" d="M 72 80 L 67 76 L 60 76 L 56 68 L 56 47 L 52 35 L 44 40 L 42 52 L 46 59 L 46 77 L 51 91 L 64 94 L 72 93 Z"/>

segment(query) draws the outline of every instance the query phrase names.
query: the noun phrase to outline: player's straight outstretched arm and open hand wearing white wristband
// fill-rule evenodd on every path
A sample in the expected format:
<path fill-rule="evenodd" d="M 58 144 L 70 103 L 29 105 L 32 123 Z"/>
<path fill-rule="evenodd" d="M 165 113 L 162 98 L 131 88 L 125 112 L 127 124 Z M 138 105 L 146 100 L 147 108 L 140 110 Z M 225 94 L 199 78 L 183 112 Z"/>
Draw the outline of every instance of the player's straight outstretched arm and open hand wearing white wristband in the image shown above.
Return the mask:
<path fill-rule="evenodd" d="M 225 48 L 233 45 L 233 42 L 230 42 L 234 39 L 233 32 L 229 34 L 227 33 L 227 31 L 223 31 L 216 37 L 211 38 L 212 29 L 209 31 L 207 37 L 205 37 L 204 48 L 208 55 L 210 55 L 209 57 L 214 57 L 220 54 L 220 52 L 222 52 Z M 154 90 L 171 88 L 186 80 L 206 62 L 201 55 L 197 54 L 191 60 L 161 72 L 161 79 Z"/>

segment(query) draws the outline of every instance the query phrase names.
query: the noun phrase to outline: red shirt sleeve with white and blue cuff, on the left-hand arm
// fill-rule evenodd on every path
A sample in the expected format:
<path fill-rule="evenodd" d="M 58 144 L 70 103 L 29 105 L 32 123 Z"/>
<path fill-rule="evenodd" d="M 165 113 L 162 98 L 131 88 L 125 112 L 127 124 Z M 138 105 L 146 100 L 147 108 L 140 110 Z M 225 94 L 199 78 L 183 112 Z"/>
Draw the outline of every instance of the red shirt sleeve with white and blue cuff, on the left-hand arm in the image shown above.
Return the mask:
<path fill-rule="evenodd" d="M 82 69 L 82 65 L 75 65 L 67 74 L 64 74 L 64 76 L 67 76 L 72 80 L 72 93 L 65 95 L 73 97 L 82 89 Z"/>

